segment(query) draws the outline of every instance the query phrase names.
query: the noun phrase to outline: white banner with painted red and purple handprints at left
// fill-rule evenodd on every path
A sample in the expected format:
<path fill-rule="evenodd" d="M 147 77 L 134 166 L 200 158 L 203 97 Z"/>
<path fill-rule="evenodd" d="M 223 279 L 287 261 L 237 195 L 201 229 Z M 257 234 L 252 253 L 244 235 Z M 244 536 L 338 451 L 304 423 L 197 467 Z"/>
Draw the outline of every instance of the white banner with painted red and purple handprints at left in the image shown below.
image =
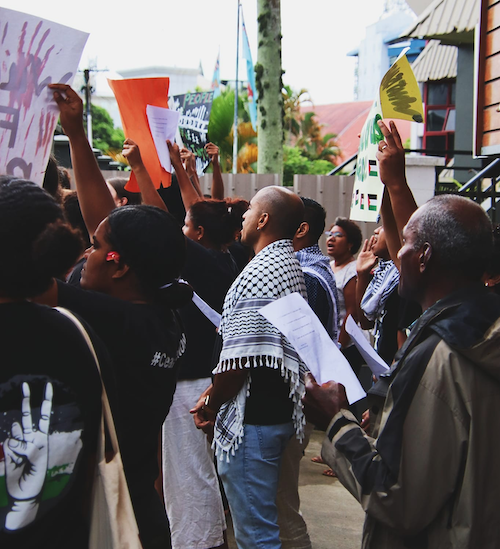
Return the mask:
<path fill-rule="evenodd" d="M 88 34 L 0 8 L 0 173 L 42 185 L 59 109 L 48 84 L 71 84 Z"/>

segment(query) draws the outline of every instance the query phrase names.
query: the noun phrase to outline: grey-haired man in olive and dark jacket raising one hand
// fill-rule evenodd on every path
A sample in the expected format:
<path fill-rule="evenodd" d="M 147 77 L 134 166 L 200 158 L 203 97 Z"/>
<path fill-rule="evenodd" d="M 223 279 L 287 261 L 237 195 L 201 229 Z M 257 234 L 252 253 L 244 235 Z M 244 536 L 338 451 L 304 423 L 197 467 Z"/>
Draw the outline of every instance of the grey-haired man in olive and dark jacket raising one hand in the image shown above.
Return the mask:
<path fill-rule="evenodd" d="M 482 282 L 491 223 L 454 195 L 416 210 L 396 127 L 379 125 L 380 176 L 403 237 L 399 291 L 424 313 L 377 384 L 387 398 L 375 438 L 334 382 L 308 380 L 306 414 L 327 429 L 322 455 L 366 511 L 364 548 L 493 548 L 500 298 Z"/>

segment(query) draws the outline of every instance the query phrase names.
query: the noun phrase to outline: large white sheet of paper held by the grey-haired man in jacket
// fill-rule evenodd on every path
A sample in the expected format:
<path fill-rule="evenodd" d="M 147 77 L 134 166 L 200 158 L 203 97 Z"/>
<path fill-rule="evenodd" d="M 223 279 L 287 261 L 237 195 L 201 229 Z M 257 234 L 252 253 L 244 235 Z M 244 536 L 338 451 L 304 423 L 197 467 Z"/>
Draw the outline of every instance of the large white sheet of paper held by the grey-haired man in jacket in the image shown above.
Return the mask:
<path fill-rule="evenodd" d="M 349 404 L 366 396 L 349 362 L 300 294 L 277 299 L 259 312 L 290 341 L 319 384 L 342 383 Z"/>

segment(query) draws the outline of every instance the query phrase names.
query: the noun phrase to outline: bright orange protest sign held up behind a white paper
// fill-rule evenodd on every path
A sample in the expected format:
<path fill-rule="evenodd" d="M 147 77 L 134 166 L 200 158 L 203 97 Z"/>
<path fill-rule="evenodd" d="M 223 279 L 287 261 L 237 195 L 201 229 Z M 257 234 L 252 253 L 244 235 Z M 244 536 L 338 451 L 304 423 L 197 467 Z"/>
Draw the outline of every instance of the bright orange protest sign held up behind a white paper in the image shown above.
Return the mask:
<path fill-rule="evenodd" d="M 169 78 L 128 78 L 109 80 L 115 94 L 125 136 L 139 145 L 142 161 L 154 186 L 170 187 L 172 176 L 160 164 L 146 115 L 147 105 L 168 108 Z M 134 173 L 126 189 L 139 192 Z"/>

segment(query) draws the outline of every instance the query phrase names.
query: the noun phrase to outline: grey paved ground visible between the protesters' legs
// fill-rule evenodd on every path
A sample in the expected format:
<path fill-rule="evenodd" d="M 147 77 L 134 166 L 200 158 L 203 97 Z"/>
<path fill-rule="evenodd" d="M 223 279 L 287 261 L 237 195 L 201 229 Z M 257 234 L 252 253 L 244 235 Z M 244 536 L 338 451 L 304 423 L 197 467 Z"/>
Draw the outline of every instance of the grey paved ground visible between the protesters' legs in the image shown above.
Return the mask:
<path fill-rule="evenodd" d="M 364 513 L 359 503 L 335 478 L 321 473 L 325 465 L 313 463 L 324 433 L 314 431 L 301 462 L 300 499 L 313 549 L 359 549 Z M 229 548 L 236 549 L 231 528 Z"/>

